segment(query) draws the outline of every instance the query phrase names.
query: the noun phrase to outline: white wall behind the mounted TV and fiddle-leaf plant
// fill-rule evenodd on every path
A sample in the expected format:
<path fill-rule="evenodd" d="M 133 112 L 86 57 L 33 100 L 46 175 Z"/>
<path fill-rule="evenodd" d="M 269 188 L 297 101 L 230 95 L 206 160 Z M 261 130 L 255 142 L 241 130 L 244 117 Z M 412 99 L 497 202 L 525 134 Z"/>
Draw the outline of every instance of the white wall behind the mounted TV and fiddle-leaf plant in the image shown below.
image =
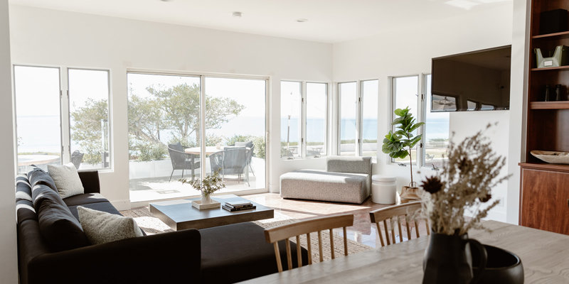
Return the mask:
<path fill-rule="evenodd" d="M 334 44 L 334 80 L 363 80 L 378 78 L 380 83 L 378 133 L 390 129 L 391 95 L 388 77 L 403 75 L 420 75 L 430 73 L 431 58 L 472 50 L 493 48 L 512 43 L 512 4 L 504 3 L 495 9 L 487 9 L 440 21 L 425 23 L 414 28 L 399 29 L 369 38 L 351 40 Z M 514 58 L 513 58 L 514 59 Z M 519 58 L 516 58 L 518 60 Z M 517 65 L 513 65 L 515 67 Z M 512 81 L 514 86 L 522 82 Z M 518 96 L 519 94 L 515 94 Z M 514 96 L 514 91 L 512 95 Z M 519 107 L 512 104 L 511 107 Z M 517 111 L 516 111 L 517 113 Z M 510 111 L 477 111 L 452 113 L 451 131 L 456 131 L 456 139 L 464 138 L 482 129 L 488 123 L 499 121 L 499 127 L 491 133 L 494 151 L 508 155 Z M 514 125 L 519 128 L 520 121 Z M 380 139 L 381 140 L 381 139 Z M 388 155 L 380 153 L 378 165 L 374 173 L 395 175 L 398 177 L 398 187 L 408 182 L 409 168 L 388 163 Z M 415 168 L 413 168 L 415 170 Z M 517 168 L 504 169 L 506 173 L 519 171 Z M 431 170 L 421 169 L 414 180 L 421 176 L 432 175 Z M 506 197 L 508 185 L 496 188 L 495 195 Z M 494 219 L 506 221 L 506 203 L 494 210 Z"/>

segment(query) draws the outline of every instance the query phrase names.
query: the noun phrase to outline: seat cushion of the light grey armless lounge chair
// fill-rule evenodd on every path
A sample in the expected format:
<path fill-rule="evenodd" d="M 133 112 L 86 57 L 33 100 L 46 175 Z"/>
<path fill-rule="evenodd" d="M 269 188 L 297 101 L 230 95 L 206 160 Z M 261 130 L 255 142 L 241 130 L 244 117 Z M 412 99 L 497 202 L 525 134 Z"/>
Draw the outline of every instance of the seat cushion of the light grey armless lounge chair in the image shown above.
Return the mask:
<path fill-rule="evenodd" d="M 361 204 L 369 196 L 369 175 L 294 170 L 280 176 L 283 198 Z"/>

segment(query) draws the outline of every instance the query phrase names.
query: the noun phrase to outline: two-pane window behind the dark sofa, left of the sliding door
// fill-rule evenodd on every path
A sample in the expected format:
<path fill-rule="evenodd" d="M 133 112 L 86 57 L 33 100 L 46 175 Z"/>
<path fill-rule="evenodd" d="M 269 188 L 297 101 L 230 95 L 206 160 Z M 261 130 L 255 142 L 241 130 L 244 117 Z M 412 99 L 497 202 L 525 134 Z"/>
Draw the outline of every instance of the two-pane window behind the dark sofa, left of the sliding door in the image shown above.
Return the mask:
<path fill-rule="evenodd" d="M 16 65 L 14 93 L 18 172 L 69 162 L 110 168 L 107 70 Z"/>

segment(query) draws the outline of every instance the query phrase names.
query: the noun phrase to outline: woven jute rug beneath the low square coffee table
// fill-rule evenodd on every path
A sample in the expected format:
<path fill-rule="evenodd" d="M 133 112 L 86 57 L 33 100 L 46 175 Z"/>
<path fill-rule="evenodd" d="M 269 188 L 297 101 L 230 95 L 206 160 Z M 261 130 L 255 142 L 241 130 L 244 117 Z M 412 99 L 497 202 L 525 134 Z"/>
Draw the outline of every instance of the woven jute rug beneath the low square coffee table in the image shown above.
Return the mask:
<path fill-rule="evenodd" d="M 161 222 L 160 219 L 153 217 L 150 213 L 148 207 L 140 207 L 135 208 L 132 210 L 125 210 L 121 211 L 121 214 L 124 216 L 134 218 L 134 221 L 137 222 L 140 229 L 142 229 L 147 234 L 160 234 L 166 231 L 174 231 L 168 225 Z M 277 213 L 277 212 L 275 212 Z M 263 220 L 262 222 L 255 222 L 255 224 L 262 226 L 263 228 L 272 228 L 273 226 L 280 226 L 283 224 L 291 224 L 297 222 L 296 219 L 282 219 L 282 214 L 275 214 L 277 217 L 276 219 L 280 219 L 275 222 L 267 222 L 269 220 Z M 334 231 L 333 234 L 334 239 L 334 256 L 336 258 L 344 256 L 344 236 L 341 236 L 338 232 Z M 322 231 L 322 258 L 324 261 L 331 259 L 331 245 L 330 245 L 330 234 L 329 231 Z M 293 243 L 296 244 L 296 238 L 290 239 Z M 320 255 L 318 251 L 318 234 L 316 232 L 310 234 L 310 244 L 312 247 L 312 262 L 317 263 L 320 262 Z M 300 236 L 300 245 L 307 249 L 307 237 L 306 235 Z M 356 241 L 348 240 L 348 254 L 355 254 L 361 251 L 368 251 L 371 246 L 366 246 L 364 244 L 360 244 Z"/>

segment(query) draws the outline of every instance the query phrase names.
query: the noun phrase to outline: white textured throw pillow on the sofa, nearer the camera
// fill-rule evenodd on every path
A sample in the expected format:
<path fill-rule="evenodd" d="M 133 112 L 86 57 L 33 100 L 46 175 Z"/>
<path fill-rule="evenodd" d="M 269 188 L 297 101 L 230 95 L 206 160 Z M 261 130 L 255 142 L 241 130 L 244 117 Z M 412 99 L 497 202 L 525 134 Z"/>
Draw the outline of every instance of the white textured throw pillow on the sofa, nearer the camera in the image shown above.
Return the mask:
<path fill-rule="evenodd" d="M 91 244 L 142 236 L 137 222 L 132 217 L 110 214 L 82 206 L 77 207 L 79 222 Z"/>

